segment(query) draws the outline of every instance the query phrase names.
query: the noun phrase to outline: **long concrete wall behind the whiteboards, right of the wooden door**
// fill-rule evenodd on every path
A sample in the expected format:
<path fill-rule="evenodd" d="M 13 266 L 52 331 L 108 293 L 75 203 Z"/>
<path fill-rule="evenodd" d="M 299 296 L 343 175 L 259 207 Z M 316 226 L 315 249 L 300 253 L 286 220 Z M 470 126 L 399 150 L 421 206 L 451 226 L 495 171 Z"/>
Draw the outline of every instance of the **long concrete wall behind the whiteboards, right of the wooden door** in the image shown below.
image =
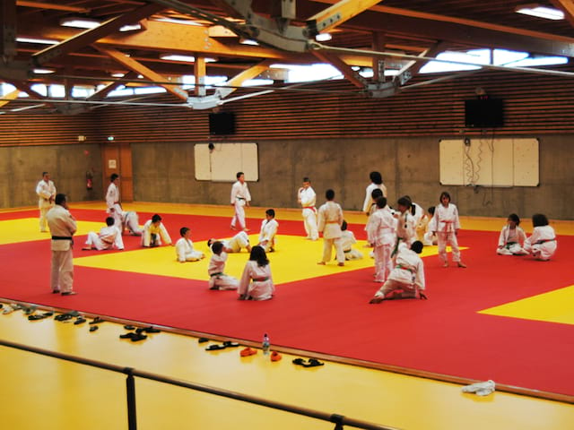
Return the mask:
<path fill-rule="evenodd" d="M 254 205 L 297 207 L 301 178 L 309 176 L 317 203 L 333 188 L 345 210 L 357 211 L 370 171 L 378 170 L 391 203 L 409 194 L 426 209 L 438 204 L 439 193 L 447 189 L 462 215 L 506 217 L 517 212 L 527 218 L 541 211 L 552 219 L 574 219 L 570 139 L 540 138 L 540 185 L 512 188 L 443 187 L 435 137 L 261 141 L 259 181 L 249 189 Z M 196 181 L 194 143 L 141 143 L 132 150 L 136 201 L 229 204 L 230 183 Z"/>

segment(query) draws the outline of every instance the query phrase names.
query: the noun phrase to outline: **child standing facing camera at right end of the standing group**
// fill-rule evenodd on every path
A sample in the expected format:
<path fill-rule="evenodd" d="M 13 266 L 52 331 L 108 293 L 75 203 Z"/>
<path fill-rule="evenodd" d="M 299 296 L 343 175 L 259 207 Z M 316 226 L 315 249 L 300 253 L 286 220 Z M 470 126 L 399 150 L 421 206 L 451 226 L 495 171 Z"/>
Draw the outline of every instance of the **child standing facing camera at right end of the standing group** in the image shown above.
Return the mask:
<path fill-rule="evenodd" d="M 440 204 L 434 211 L 429 223 L 429 228 L 433 234 L 437 235 L 439 242 L 439 257 L 443 262 L 443 267 L 448 267 L 447 245 L 452 250 L 452 261 L 458 267 L 465 268 L 464 262 L 460 261 L 460 250 L 458 249 L 457 234 L 460 229 L 457 206 L 450 202 L 450 194 L 446 191 L 440 193 Z"/>

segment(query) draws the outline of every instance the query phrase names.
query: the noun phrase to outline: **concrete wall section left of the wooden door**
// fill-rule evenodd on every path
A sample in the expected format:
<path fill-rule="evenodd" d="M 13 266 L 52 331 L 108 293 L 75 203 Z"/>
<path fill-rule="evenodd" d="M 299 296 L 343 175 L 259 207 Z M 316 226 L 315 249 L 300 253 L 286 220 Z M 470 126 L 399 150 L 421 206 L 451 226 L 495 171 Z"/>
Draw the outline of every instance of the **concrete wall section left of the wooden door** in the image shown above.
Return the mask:
<path fill-rule="evenodd" d="M 94 169 L 93 189 L 86 171 Z M 97 144 L 0 147 L 0 203 L 3 208 L 38 205 L 36 185 L 48 171 L 58 193 L 70 202 L 102 198 L 101 154 Z"/>

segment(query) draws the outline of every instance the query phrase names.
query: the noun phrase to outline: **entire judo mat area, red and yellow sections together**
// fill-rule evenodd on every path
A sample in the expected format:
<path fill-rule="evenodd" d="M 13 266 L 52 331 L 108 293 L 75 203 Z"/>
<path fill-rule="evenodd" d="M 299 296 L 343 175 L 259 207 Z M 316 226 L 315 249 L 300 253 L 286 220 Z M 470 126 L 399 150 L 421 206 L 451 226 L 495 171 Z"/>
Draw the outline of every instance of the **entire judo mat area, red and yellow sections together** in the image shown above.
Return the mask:
<path fill-rule="evenodd" d="M 152 214 L 138 212 L 141 223 Z M 230 217 L 181 212 L 161 212 L 174 241 L 182 226 L 192 229 L 204 252 L 207 238 L 230 236 Z M 240 340 L 259 341 L 268 332 L 278 346 L 574 395 L 568 365 L 574 358 L 574 308 L 564 305 L 574 285 L 565 251 L 573 236 L 559 236 L 552 261 L 535 262 L 495 254 L 498 231 L 462 230 L 467 269 L 444 269 L 436 247 L 425 248 L 429 300 L 369 305 L 379 284 L 372 280 L 364 242 L 355 245 L 363 260 L 344 268 L 318 266 L 322 242 L 305 241 L 302 221 L 282 219 L 277 211 L 277 252 L 269 254 L 275 297 L 242 302 L 233 291 L 207 289 L 208 258 L 179 263 L 173 247 L 141 249 L 135 236 L 124 236 L 126 251 L 82 251 L 82 235 L 103 226 L 105 213 L 74 207 L 73 213 L 80 229 L 74 247 L 79 294 L 50 293 L 49 236 L 36 233 L 37 211 L 13 211 L 0 214 L 0 227 L 11 223 L 3 231 L 18 232 L 4 235 L 0 245 L 6 267 L 0 297 Z M 248 220 L 253 232 L 261 218 Z M 350 225 L 360 240 L 363 227 Z M 247 259 L 245 251 L 230 254 L 226 271 L 239 277 Z"/>

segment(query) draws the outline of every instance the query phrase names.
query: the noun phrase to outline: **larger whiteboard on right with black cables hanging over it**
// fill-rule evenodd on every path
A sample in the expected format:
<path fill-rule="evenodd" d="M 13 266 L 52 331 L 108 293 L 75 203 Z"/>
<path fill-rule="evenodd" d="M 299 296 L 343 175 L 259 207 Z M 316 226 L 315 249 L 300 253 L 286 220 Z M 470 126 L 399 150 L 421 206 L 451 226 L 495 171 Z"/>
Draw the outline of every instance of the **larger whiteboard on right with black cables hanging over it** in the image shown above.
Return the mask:
<path fill-rule="evenodd" d="M 537 186 L 538 140 L 454 139 L 439 141 L 441 185 Z"/>

